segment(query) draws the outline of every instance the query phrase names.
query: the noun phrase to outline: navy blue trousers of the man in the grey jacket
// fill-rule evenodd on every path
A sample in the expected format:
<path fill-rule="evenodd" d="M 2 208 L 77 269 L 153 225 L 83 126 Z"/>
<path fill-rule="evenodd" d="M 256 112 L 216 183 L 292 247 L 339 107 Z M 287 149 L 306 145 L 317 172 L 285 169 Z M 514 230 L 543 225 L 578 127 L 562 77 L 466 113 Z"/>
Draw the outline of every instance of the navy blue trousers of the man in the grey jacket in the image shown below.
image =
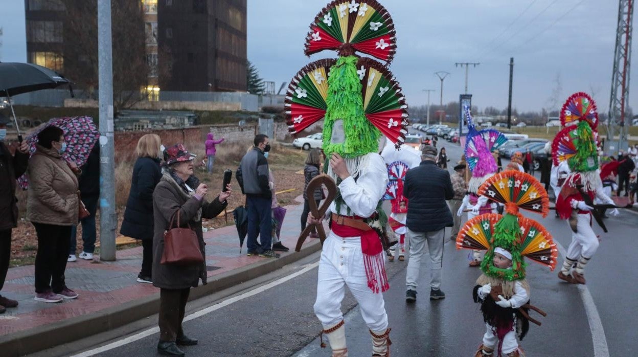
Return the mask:
<path fill-rule="evenodd" d="M 248 252 L 263 253 L 271 250 L 272 243 L 272 200 L 249 195 L 248 204 Z M 260 244 L 257 243 L 259 234 Z"/>

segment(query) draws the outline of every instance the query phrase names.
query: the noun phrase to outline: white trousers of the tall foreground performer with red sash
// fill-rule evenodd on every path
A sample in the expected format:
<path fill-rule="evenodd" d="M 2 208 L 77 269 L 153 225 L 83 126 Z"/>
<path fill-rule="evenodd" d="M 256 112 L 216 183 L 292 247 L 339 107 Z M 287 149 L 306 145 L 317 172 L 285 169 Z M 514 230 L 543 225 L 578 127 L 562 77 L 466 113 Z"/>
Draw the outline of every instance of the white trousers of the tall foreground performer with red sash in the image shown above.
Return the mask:
<path fill-rule="evenodd" d="M 317 280 L 315 315 L 324 329 L 343 320 L 341 301 L 346 285 L 359 303 L 367 327 L 373 331 L 388 328 L 383 294 L 367 287 L 360 238 L 341 238 L 330 232 L 323 242 Z"/>

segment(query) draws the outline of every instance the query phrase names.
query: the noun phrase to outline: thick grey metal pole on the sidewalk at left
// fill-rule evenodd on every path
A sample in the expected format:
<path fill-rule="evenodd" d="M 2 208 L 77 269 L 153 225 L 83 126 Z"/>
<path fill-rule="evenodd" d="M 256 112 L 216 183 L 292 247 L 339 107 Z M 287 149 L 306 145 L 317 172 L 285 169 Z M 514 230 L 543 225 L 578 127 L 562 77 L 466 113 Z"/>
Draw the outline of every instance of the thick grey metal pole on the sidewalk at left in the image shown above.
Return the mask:
<path fill-rule="evenodd" d="M 100 100 L 100 260 L 115 260 L 115 163 L 111 0 L 98 0 L 98 84 Z"/>

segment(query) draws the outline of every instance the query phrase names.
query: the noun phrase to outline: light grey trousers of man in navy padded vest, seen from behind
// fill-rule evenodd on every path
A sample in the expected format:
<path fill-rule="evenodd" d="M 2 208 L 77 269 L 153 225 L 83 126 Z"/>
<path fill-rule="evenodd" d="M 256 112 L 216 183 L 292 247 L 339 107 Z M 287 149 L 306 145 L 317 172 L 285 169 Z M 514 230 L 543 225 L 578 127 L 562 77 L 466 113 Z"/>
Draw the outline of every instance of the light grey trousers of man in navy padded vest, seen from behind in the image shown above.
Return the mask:
<path fill-rule="evenodd" d="M 425 254 L 426 243 L 430 254 L 430 287 L 440 289 L 443 273 L 443 238 L 445 228 L 434 232 L 414 232 L 408 228 L 410 241 L 410 258 L 405 275 L 405 285 L 408 290 L 417 290 L 421 258 Z"/>

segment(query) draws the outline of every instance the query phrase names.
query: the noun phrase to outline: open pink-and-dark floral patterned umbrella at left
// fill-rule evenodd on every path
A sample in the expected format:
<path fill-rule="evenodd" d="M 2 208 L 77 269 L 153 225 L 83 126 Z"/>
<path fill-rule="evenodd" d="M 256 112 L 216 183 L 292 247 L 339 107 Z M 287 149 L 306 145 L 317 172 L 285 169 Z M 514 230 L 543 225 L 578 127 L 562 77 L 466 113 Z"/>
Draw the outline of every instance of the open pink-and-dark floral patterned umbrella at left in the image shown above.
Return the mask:
<path fill-rule="evenodd" d="M 47 126 L 57 126 L 64 130 L 64 141 L 66 142 L 66 151 L 62 154 L 64 160 L 75 162 L 78 167 L 86 163 L 89 153 L 100 137 L 100 132 L 93 123 L 93 118 L 88 116 L 53 118 L 33 133 L 26 137 L 29 144 L 29 155 L 33 155 L 36 151 L 36 143 L 38 142 L 38 133 Z M 23 190 L 29 186 L 27 176 L 22 175 L 18 179 L 18 183 Z"/>

